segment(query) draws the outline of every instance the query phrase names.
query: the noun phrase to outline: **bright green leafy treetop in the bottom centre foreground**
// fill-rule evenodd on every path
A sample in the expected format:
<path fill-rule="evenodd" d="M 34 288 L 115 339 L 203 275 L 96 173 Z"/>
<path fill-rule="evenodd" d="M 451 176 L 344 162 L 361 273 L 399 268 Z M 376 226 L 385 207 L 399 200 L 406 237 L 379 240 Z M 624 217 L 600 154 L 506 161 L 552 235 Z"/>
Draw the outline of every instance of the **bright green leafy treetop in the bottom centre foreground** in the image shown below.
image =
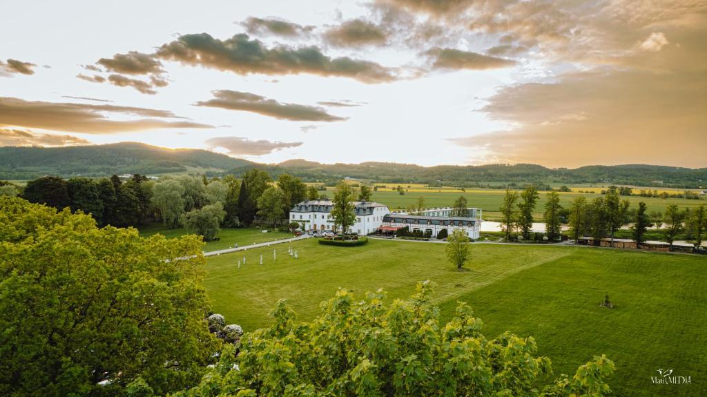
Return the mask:
<path fill-rule="evenodd" d="M 481 320 L 460 302 L 447 324 L 432 305 L 433 285 L 385 304 L 385 292 L 355 299 L 341 290 L 320 316 L 295 323 L 279 301 L 269 328 L 228 346 L 201 384 L 175 397 L 226 396 L 592 396 L 610 393 L 614 363 L 604 355 L 572 378 L 549 379 L 551 361 L 534 338 L 481 334 Z"/>

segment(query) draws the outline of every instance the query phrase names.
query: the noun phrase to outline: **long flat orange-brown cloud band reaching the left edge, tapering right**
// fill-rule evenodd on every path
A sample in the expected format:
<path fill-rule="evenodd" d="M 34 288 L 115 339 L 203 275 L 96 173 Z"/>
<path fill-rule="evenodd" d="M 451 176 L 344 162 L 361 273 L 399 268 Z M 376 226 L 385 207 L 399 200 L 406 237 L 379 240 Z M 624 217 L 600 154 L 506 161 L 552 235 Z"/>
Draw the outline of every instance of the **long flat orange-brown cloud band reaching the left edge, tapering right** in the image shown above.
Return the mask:
<path fill-rule="evenodd" d="M 112 120 L 107 118 L 105 114 L 149 118 Z M 117 134 L 148 129 L 213 128 L 207 124 L 181 119 L 166 110 L 115 105 L 25 101 L 13 97 L 0 97 L 0 126 L 83 134 Z"/>

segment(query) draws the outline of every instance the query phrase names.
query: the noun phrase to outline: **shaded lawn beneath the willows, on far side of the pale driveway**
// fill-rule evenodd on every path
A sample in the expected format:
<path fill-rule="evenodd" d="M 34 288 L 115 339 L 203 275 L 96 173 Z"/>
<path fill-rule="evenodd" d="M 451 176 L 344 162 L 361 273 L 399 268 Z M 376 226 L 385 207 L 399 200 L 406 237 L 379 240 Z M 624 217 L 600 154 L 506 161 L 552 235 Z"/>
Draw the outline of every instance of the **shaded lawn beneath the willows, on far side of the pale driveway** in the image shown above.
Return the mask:
<path fill-rule="evenodd" d="M 223 228 L 221 229 L 221 233 L 218 235 L 220 240 L 206 242 L 204 245 L 204 251 L 226 249 L 233 247 L 233 244 L 238 244 L 238 247 L 243 247 L 253 243 L 271 242 L 278 239 L 293 237 L 292 233 L 279 232 L 277 230 L 270 230 L 269 228 L 267 230 L 269 230 L 269 232 L 263 233 L 260 229 L 256 229 L 255 227 L 236 229 Z M 156 233 L 160 233 L 168 238 L 173 238 L 186 235 L 187 231 L 182 227 L 170 229 L 161 223 L 147 225 L 146 227 L 142 227 L 140 229 L 140 235 L 142 237 L 148 237 L 155 235 Z"/>

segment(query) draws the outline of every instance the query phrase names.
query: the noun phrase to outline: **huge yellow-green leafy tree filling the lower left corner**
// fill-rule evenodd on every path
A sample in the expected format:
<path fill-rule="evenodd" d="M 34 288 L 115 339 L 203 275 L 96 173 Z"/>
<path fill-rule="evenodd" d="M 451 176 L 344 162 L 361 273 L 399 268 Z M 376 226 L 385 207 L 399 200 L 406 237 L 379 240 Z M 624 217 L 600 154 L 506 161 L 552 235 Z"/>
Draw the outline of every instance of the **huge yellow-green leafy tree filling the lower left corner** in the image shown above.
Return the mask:
<path fill-rule="evenodd" d="M 1 395 L 116 396 L 136 379 L 163 395 L 199 381 L 218 345 L 197 238 L 99 229 L 20 198 L 0 197 L 0 219 Z"/>

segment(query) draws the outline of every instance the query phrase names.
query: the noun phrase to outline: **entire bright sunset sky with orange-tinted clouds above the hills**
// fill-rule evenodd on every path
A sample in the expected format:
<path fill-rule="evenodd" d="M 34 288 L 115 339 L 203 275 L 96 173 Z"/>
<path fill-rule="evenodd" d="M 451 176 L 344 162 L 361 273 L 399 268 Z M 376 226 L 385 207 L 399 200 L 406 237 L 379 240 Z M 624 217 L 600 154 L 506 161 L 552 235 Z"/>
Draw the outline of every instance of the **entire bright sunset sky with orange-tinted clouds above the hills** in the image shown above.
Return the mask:
<path fill-rule="evenodd" d="M 0 146 L 707 167 L 707 1 L 4 1 Z"/>

